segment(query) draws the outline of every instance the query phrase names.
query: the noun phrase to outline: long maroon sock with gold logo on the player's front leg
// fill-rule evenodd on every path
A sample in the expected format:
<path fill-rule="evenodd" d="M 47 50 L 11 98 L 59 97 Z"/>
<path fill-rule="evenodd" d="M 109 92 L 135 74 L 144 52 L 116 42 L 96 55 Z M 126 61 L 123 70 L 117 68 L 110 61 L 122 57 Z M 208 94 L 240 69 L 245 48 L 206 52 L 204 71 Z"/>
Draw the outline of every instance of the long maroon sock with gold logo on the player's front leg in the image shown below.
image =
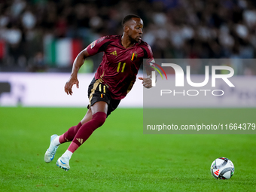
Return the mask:
<path fill-rule="evenodd" d="M 106 117 L 107 114 L 104 112 L 97 112 L 96 114 L 93 114 L 93 118 L 80 127 L 72 143 L 69 145 L 68 150 L 74 153 L 74 151 L 90 137 L 94 130 L 99 126 L 102 126 Z"/>

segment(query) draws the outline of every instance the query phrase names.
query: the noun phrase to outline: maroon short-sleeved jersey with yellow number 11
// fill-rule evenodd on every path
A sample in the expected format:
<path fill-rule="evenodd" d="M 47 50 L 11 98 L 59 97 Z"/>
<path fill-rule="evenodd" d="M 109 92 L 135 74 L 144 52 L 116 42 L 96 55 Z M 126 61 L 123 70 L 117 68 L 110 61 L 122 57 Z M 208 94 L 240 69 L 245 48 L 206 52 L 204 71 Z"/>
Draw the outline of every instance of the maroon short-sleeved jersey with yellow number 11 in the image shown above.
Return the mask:
<path fill-rule="evenodd" d="M 153 59 L 151 47 L 140 41 L 126 49 L 121 44 L 121 35 L 99 38 L 87 47 L 89 55 L 102 51 L 102 62 L 95 78 L 108 87 L 113 99 L 123 99 L 133 87 L 143 59 Z"/>

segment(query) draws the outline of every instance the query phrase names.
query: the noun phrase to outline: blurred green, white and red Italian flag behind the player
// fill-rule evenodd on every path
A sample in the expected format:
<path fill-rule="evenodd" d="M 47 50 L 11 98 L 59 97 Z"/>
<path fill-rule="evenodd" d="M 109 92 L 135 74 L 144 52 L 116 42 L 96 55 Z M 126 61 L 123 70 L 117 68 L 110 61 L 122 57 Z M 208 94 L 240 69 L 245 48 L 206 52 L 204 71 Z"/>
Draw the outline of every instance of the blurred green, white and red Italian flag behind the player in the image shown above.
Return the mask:
<path fill-rule="evenodd" d="M 72 66 L 81 52 L 82 41 L 72 38 L 44 38 L 44 61 L 50 66 Z"/>

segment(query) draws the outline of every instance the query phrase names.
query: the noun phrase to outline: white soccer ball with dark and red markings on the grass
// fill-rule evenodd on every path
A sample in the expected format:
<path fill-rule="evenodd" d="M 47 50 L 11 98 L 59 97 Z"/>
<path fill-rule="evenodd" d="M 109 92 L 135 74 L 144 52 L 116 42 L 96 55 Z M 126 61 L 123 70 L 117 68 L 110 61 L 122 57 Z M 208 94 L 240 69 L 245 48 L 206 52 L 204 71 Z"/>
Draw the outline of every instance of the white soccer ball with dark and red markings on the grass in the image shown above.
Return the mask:
<path fill-rule="evenodd" d="M 235 167 L 231 160 L 220 157 L 212 162 L 212 176 L 217 179 L 229 179 L 235 172 Z"/>

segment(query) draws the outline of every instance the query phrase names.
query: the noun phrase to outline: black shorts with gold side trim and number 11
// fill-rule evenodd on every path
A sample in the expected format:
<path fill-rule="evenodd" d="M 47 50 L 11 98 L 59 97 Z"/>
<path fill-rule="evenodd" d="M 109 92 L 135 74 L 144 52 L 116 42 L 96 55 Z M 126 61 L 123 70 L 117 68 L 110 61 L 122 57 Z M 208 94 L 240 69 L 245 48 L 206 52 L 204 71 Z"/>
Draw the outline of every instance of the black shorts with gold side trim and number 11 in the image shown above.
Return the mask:
<path fill-rule="evenodd" d="M 88 87 L 88 97 L 90 104 L 87 108 L 90 108 L 94 103 L 100 101 L 108 103 L 107 115 L 111 114 L 111 112 L 114 111 L 120 103 L 120 99 L 112 99 L 108 87 L 102 84 L 99 79 L 95 78 L 93 78 L 93 81 L 90 82 Z"/>

